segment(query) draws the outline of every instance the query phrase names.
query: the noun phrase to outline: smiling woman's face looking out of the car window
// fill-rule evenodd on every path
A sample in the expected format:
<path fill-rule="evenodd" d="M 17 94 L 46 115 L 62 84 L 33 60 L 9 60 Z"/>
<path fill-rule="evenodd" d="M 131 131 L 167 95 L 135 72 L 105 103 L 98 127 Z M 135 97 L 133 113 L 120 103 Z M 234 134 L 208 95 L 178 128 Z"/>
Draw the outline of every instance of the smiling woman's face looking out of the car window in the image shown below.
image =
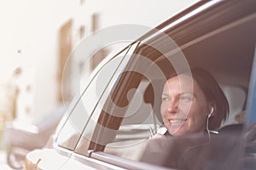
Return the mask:
<path fill-rule="evenodd" d="M 189 76 L 180 75 L 166 81 L 160 112 L 169 133 L 174 136 L 204 133 L 209 110 L 201 88 Z"/>

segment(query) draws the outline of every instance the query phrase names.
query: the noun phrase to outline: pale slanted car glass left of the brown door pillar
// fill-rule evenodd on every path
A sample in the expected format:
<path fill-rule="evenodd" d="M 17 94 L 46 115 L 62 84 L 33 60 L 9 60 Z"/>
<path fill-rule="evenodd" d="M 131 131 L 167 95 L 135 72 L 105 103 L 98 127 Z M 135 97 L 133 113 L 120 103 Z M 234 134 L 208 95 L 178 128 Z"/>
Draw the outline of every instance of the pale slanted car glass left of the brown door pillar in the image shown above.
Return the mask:
<path fill-rule="evenodd" d="M 107 61 L 99 66 L 100 69 L 97 68 L 92 73 L 92 78 L 89 79 L 91 81 L 80 88 L 80 93 L 73 99 L 72 106 L 67 111 L 69 114 L 63 117 L 58 127 L 56 143 L 59 146 L 73 150 L 82 133 L 83 137 L 90 141 L 90 134 L 99 116 L 99 108 L 102 108 L 115 80 L 119 77 L 119 72 L 130 59 L 128 51 L 133 51 L 136 47 L 137 44 L 130 45 L 119 54 L 108 57 Z"/>

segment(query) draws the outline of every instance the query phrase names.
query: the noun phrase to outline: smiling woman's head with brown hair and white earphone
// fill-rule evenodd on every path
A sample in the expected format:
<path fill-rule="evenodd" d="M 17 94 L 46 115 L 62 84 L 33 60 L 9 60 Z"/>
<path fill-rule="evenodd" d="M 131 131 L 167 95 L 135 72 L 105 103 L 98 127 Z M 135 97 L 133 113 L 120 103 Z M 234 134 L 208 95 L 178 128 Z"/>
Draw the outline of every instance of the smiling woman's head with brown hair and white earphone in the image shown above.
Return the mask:
<path fill-rule="evenodd" d="M 217 130 L 229 114 L 229 103 L 218 82 L 202 69 L 169 78 L 162 92 L 160 113 L 168 133 Z"/>

